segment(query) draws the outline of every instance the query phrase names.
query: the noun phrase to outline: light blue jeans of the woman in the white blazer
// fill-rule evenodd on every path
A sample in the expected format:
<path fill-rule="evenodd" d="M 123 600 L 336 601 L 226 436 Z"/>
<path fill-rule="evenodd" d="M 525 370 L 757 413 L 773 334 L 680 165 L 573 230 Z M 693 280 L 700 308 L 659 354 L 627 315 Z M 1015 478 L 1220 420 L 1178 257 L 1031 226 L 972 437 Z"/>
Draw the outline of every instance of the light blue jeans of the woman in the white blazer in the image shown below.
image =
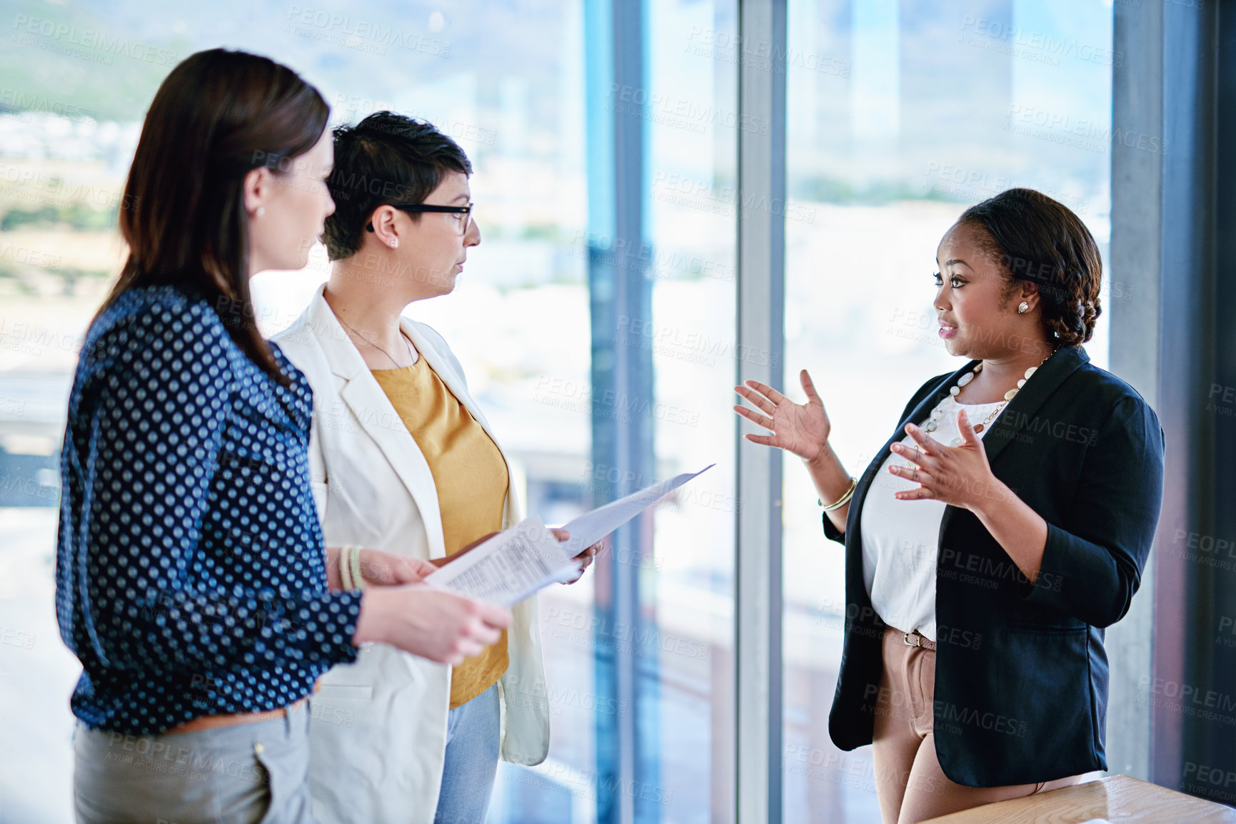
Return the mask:
<path fill-rule="evenodd" d="M 498 772 L 498 684 L 446 717 L 446 761 L 434 824 L 483 824 Z"/>

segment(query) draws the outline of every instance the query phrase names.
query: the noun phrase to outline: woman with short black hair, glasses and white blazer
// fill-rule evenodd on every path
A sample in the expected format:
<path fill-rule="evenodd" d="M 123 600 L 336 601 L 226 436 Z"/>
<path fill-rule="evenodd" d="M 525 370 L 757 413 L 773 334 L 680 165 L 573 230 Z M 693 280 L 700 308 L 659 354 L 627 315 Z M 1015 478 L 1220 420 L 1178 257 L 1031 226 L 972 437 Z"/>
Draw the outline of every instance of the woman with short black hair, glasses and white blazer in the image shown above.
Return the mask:
<path fill-rule="evenodd" d="M 403 314 L 452 292 L 481 242 L 471 174 L 433 124 L 378 111 L 335 130 L 330 279 L 276 336 L 318 399 L 310 462 L 328 541 L 440 565 L 522 519 L 462 366 L 441 335 Z M 581 574 L 596 550 L 580 553 Z M 321 717 L 310 728 L 324 822 L 483 822 L 499 757 L 545 760 L 536 597 L 512 614 L 509 630 L 462 665 L 375 647 L 323 678 L 324 703 L 347 713 L 346 725 Z"/>

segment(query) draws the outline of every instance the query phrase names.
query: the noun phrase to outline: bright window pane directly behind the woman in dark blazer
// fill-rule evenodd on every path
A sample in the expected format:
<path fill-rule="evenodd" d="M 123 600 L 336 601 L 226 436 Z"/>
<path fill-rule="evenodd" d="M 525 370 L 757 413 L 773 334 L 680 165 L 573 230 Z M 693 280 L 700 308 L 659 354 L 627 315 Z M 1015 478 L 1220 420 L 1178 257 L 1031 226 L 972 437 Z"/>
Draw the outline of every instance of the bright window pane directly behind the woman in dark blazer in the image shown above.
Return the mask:
<path fill-rule="evenodd" d="M 784 383 L 797 397 L 798 371 L 811 371 L 858 476 L 913 390 L 960 364 L 936 336 L 931 275 L 967 206 L 1038 189 L 1082 217 L 1107 259 L 1111 72 L 1124 56 L 1099 0 L 790 0 L 789 16 L 786 175 L 800 205 L 786 211 Z M 1107 274 L 1104 305 L 1131 299 Z M 1100 366 L 1105 321 L 1086 345 Z M 797 461 L 784 484 L 785 820 L 878 820 L 870 747 L 828 739 L 844 553 L 823 537 Z"/>

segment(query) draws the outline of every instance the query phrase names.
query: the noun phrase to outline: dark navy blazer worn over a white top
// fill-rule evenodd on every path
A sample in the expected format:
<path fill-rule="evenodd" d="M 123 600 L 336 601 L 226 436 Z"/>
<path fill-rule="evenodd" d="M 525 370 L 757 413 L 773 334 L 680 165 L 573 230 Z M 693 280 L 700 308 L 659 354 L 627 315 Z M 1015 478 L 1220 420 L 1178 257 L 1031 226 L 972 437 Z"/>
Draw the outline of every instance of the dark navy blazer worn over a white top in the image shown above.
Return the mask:
<path fill-rule="evenodd" d="M 868 487 L 906 423 L 922 423 L 970 361 L 925 383 L 858 482 L 842 534 L 845 635 L 828 731 L 871 742 L 885 624 L 863 582 Z M 1146 400 L 1082 347 L 1053 353 L 983 439 L 991 472 L 1047 521 L 1031 584 L 979 519 L 947 507 L 936 567 L 936 755 L 969 787 L 1106 770 L 1104 628 L 1137 592 L 1163 498 L 1163 429 Z M 899 628 L 913 629 L 913 628 Z"/>

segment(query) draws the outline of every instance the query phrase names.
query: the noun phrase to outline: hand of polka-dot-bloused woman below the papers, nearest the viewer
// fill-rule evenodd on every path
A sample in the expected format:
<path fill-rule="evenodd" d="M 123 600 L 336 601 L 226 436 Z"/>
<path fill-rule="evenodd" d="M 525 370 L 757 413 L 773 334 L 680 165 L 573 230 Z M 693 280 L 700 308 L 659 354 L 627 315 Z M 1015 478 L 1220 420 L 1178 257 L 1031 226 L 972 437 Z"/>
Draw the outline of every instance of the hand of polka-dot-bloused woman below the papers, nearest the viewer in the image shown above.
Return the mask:
<path fill-rule="evenodd" d="M 381 641 L 455 666 L 497 644 L 510 610 L 425 586 L 377 587 L 361 597 L 352 642 Z"/>

